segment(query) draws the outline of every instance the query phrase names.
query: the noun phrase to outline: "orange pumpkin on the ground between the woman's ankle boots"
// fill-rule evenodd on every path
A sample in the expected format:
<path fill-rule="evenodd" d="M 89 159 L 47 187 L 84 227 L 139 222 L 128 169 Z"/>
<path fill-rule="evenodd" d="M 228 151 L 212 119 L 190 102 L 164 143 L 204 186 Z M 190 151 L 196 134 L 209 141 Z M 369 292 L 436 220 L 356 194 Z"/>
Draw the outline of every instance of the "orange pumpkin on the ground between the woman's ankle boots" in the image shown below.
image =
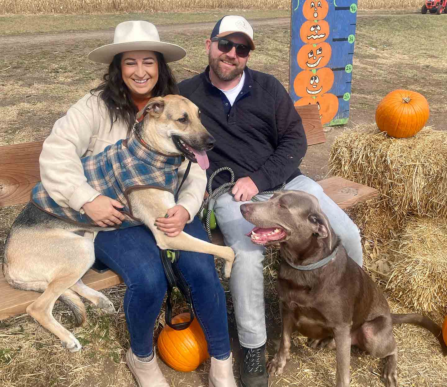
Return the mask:
<path fill-rule="evenodd" d="M 189 313 L 181 313 L 175 316 L 172 322 L 182 323 L 189 319 Z M 197 319 L 181 331 L 165 325 L 158 336 L 157 346 L 161 359 L 177 371 L 194 371 L 210 357 L 207 340 Z"/>

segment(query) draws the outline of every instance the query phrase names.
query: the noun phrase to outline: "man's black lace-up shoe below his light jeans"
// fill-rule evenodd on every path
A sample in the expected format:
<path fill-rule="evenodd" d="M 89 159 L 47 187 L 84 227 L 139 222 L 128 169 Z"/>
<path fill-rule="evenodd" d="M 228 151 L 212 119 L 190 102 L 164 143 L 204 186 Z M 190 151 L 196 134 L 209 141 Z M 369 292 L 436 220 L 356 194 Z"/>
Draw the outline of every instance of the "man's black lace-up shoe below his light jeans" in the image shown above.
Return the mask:
<path fill-rule="evenodd" d="M 268 387 L 266 344 L 259 348 L 242 347 L 244 359 L 240 365 L 242 387 Z"/>

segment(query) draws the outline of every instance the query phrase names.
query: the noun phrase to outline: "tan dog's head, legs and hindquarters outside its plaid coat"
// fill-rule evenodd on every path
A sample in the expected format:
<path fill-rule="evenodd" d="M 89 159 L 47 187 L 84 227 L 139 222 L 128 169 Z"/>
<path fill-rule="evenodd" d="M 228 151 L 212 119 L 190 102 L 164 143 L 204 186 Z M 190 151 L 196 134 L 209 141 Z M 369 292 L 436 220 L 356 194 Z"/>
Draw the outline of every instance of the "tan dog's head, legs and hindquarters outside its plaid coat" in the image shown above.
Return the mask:
<path fill-rule="evenodd" d="M 184 154 L 205 169 L 208 164 L 205 151 L 212 148 L 215 140 L 200 122 L 199 113 L 194 103 L 178 95 L 152 98 L 137 115 L 137 118 L 145 115 L 139 126 L 139 138 L 158 153 L 177 157 Z M 230 247 L 216 246 L 185 232 L 169 237 L 157 230 L 155 219 L 164 216 L 176 204 L 171 191 L 134 189 L 128 193 L 128 201 L 133 217 L 152 231 L 160 249 L 217 255 L 225 259 L 224 275 L 230 276 L 234 260 Z M 14 221 L 6 240 L 3 263 L 6 281 L 13 288 L 42 292 L 26 312 L 58 336 L 70 352 L 79 351 L 81 345 L 53 317 L 56 300 L 64 302 L 73 311 L 77 326 L 86 318 L 78 294 L 101 310 L 115 313 L 108 298 L 81 280 L 95 260 L 93 236 L 104 230 L 115 228 L 64 221 L 29 203 Z"/>

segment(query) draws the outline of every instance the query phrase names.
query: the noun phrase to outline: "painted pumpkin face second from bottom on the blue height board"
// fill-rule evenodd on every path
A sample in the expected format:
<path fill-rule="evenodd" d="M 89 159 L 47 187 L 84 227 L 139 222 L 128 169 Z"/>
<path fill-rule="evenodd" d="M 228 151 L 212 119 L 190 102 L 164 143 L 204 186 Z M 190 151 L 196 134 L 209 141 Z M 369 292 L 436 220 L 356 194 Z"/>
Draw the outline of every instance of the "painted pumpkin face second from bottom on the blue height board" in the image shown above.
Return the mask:
<path fill-rule="evenodd" d="M 293 88 L 297 96 L 316 97 L 318 94 L 328 92 L 332 87 L 334 73 L 330 68 L 324 67 L 314 71 L 304 70 L 295 77 Z"/>

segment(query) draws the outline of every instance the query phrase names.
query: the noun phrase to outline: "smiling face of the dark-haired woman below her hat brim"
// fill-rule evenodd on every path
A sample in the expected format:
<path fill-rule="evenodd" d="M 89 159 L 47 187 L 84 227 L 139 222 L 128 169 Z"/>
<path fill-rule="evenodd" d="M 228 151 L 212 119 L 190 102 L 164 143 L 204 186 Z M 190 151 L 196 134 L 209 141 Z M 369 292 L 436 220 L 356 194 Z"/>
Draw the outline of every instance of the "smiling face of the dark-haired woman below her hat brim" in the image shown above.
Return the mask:
<path fill-rule="evenodd" d="M 158 61 L 154 51 L 127 51 L 121 59 L 122 80 L 131 94 L 150 98 L 158 82 Z"/>

